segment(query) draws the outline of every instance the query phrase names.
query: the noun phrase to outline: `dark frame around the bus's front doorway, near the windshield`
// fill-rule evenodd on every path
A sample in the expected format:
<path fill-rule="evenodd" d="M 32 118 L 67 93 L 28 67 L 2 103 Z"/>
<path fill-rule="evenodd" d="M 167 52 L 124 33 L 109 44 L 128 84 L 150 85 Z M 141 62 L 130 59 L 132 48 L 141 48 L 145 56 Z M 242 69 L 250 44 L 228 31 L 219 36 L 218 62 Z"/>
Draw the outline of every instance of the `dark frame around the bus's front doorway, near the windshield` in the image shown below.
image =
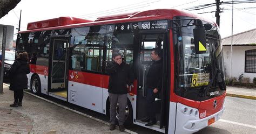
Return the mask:
<path fill-rule="evenodd" d="M 164 35 L 164 44 L 163 44 L 163 75 L 162 75 L 162 90 L 161 90 L 161 109 L 160 109 L 160 125 L 159 125 L 159 129 L 162 129 L 163 126 L 165 126 L 165 131 L 168 131 L 168 126 L 169 126 L 169 107 L 170 107 L 170 37 L 169 37 L 169 33 L 170 30 L 159 30 L 159 31 L 140 31 L 139 32 L 139 64 L 138 67 L 140 65 L 142 65 L 142 59 L 140 59 L 141 57 L 141 52 L 142 52 L 142 43 L 144 41 L 143 35 L 146 34 L 163 34 Z M 140 87 L 140 70 L 138 70 L 138 87 L 137 90 L 139 90 Z M 169 81 L 169 82 L 168 82 Z M 169 84 L 168 84 L 169 83 Z M 143 87 L 144 88 L 144 87 Z M 144 89 L 146 90 L 146 89 Z M 137 91 L 138 93 L 138 91 Z M 138 104 L 138 101 L 137 101 Z M 137 105 L 136 104 L 136 105 Z M 138 112 L 138 109 L 136 108 L 136 112 Z"/>

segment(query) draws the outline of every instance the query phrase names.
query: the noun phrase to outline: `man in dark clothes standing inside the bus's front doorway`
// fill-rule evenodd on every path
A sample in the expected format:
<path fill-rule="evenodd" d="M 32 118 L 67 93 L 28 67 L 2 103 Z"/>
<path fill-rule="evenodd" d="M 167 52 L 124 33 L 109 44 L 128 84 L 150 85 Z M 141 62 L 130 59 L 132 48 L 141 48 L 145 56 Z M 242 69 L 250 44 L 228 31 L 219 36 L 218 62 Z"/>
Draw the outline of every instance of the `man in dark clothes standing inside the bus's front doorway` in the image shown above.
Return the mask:
<path fill-rule="evenodd" d="M 156 108 L 154 107 L 154 100 L 156 99 L 157 94 L 161 90 L 161 79 L 162 79 L 162 60 L 163 52 L 160 49 L 154 48 L 151 52 L 152 62 L 149 68 L 149 72 L 146 76 L 146 89 L 147 89 L 147 116 L 148 118 L 144 119 L 143 122 L 149 122 L 146 126 L 151 126 L 157 123 L 156 119 Z"/>

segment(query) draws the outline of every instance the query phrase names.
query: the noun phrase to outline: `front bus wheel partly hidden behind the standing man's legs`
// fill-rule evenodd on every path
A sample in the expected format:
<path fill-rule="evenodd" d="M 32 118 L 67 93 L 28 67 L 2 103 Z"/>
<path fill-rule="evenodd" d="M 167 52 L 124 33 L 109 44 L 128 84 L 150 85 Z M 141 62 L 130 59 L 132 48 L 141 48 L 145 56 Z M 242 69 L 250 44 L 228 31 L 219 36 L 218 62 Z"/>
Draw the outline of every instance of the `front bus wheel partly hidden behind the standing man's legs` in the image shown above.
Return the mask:
<path fill-rule="evenodd" d="M 119 107 L 117 103 L 117 108 L 116 108 L 116 120 L 118 122 L 119 118 Z M 124 125 L 126 128 L 129 128 L 133 125 L 133 111 L 132 111 L 132 105 L 129 100 L 127 100 L 127 106 L 125 107 L 125 122 Z"/>

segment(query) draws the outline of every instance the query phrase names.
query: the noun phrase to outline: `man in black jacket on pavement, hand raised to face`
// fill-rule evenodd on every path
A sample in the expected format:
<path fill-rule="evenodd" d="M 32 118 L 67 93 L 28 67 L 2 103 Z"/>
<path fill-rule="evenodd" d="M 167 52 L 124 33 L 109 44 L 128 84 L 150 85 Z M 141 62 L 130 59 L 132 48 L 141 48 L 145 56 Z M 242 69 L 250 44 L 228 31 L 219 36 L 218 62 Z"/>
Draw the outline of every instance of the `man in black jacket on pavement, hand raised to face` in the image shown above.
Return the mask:
<path fill-rule="evenodd" d="M 134 76 L 130 66 L 122 61 L 120 53 L 113 53 L 112 62 L 106 67 L 109 78 L 110 130 L 116 128 L 116 107 L 119 107 L 119 130 L 124 131 L 125 107 L 127 106 L 127 88 Z"/>

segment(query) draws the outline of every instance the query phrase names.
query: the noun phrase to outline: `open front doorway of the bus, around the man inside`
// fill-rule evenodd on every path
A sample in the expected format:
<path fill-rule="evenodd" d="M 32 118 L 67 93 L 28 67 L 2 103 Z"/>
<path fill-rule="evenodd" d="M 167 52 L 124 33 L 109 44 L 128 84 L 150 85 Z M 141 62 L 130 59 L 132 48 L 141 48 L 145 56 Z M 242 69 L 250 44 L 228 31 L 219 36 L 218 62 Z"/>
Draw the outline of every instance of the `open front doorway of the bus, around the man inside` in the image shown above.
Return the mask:
<path fill-rule="evenodd" d="M 166 120 L 169 117 L 169 92 L 167 89 L 167 34 L 140 34 L 139 41 L 139 61 L 138 61 L 138 89 L 137 89 L 137 122 L 146 124 L 141 120 L 147 117 L 147 102 L 146 102 L 146 76 L 151 65 L 151 52 L 153 48 L 163 50 L 163 69 L 162 69 L 162 88 L 155 99 L 155 110 L 157 123 L 150 126 L 151 129 L 165 129 Z"/>

